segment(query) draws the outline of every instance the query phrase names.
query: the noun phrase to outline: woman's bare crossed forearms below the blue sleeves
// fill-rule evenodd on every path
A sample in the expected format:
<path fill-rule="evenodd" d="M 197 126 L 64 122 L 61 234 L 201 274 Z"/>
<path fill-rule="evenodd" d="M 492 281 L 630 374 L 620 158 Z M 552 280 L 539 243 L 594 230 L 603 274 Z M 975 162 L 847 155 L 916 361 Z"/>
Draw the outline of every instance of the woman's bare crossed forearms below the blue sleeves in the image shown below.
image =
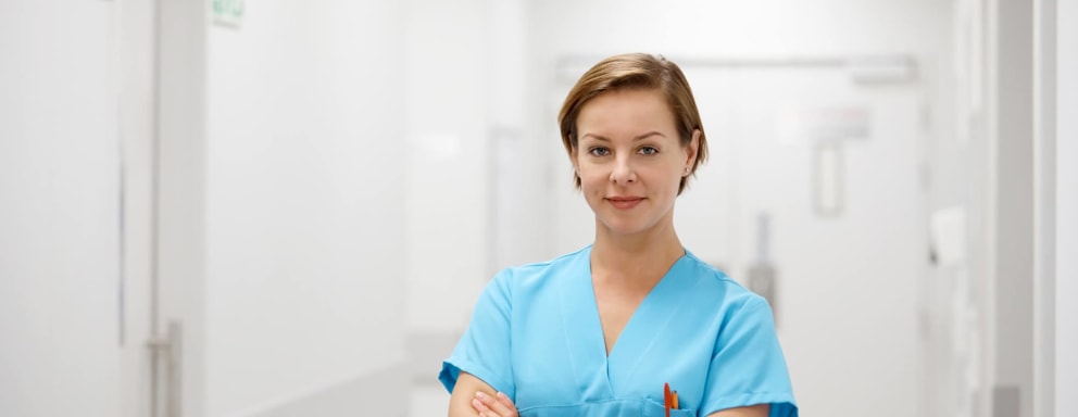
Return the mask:
<path fill-rule="evenodd" d="M 728 408 L 709 417 L 767 417 L 770 404 Z M 462 371 L 449 397 L 449 417 L 517 417 L 516 406 L 504 394 L 472 374 Z"/>

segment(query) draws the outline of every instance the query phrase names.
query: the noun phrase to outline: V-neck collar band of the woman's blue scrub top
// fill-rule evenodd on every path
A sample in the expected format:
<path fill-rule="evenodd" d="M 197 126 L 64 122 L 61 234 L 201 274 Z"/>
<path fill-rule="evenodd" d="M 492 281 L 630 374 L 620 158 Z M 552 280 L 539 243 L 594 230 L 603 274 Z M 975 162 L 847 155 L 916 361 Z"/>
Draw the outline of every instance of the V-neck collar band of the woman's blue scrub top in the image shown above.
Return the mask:
<path fill-rule="evenodd" d="M 581 400 L 616 397 L 618 381 L 631 383 L 638 363 L 645 359 L 657 334 L 679 309 L 675 290 L 684 288 L 679 280 L 692 278 L 692 274 L 680 273 L 690 258 L 686 251 L 655 283 L 625 324 L 607 356 L 591 280 L 591 247 L 577 252 L 562 279 L 561 300 L 569 361 L 584 393 Z"/>

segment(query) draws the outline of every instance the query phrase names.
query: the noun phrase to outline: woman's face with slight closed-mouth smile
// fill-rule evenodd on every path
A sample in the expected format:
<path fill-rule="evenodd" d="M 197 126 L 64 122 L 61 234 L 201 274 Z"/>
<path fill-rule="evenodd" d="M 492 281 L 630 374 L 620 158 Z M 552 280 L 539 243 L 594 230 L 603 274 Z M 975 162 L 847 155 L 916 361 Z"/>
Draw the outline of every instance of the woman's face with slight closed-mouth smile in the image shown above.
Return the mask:
<path fill-rule="evenodd" d="M 695 159 L 699 132 L 682 147 L 655 89 L 604 92 L 577 116 L 573 166 L 599 227 L 617 235 L 673 224 L 678 185 Z"/>

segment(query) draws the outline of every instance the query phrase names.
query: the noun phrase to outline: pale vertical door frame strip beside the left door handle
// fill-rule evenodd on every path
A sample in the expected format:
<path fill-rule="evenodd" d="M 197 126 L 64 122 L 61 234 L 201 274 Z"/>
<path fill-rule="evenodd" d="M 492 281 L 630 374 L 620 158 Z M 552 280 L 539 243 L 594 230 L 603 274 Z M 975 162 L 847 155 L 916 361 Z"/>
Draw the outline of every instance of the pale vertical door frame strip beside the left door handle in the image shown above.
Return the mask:
<path fill-rule="evenodd" d="M 158 112 L 155 219 L 156 298 L 151 332 L 173 323 L 183 329 L 178 393 L 186 417 L 208 415 L 206 396 L 206 4 L 158 2 L 154 62 Z M 167 17 L 164 17 L 167 16 Z M 154 290 L 151 290 L 154 291 Z M 158 374 L 159 415 L 175 389 Z M 154 365 L 147 365 L 154 366 Z"/>

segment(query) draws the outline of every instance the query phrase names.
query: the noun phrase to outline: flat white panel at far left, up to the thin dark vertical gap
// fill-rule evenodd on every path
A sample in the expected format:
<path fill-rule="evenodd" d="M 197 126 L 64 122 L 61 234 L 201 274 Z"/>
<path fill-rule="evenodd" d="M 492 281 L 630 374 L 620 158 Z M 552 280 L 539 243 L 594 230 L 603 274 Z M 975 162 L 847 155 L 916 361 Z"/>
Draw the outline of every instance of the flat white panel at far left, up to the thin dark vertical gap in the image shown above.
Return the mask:
<path fill-rule="evenodd" d="M 114 24 L 112 2 L 0 2 L 0 415 L 118 413 Z"/>

